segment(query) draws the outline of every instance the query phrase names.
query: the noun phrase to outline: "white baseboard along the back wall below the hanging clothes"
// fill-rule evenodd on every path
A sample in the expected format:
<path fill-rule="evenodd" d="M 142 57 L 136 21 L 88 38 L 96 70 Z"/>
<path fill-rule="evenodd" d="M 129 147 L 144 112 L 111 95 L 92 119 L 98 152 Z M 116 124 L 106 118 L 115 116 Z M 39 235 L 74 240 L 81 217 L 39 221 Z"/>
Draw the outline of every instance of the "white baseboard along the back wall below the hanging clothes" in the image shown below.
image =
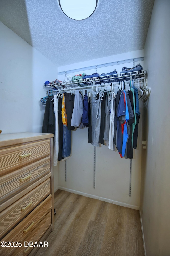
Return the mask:
<path fill-rule="evenodd" d="M 139 210 L 139 206 L 129 205 L 127 203 L 122 203 L 122 202 L 117 202 L 117 201 L 107 199 L 107 198 L 104 198 L 104 197 L 98 197 L 97 195 L 91 195 L 91 194 L 83 193 L 83 192 L 76 191 L 76 190 L 73 190 L 73 189 L 67 189 L 66 187 L 60 187 L 60 186 L 58 187 L 58 189 L 65 190 L 65 191 L 68 191 L 68 192 L 71 192 L 71 193 L 74 193 L 74 194 L 78 194 L 78 195 L 83 195 L 84 197 L 90 197 L 90 198 L 98 199 L 98 200 L 101 200 L 101 201 L 104 201 L 104 202 L 113 203 L 115 205 L 120 205 L 120 206 L 128 207 L 128 208 L 131 208 L 131 209 Z"/>

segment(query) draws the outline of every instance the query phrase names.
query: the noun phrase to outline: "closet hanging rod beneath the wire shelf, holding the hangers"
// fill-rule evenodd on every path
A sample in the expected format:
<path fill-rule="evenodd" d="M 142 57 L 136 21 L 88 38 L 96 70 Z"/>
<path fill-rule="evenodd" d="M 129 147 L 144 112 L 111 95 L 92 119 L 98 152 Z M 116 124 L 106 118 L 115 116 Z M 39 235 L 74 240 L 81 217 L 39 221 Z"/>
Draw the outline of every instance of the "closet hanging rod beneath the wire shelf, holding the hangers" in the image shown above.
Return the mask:
<path fill-rule="evenodd" d="M 138 83 L 138 80 L 137 81 L 133 81 L 133 83 Z M 127 85 L 127 84 L 129 85 L 129 81 L 125 82 L 125 85 Z M 112 86 L 118 86 L 118 85 L 121 86 L 121 82 L 120 82 L 120 84 L 119 84 L 119 82 L 118 83 L 114 83 L 114 84 L 112 83 Z M 123 85 L 123 82 L 122 82 L 122 85 Z M 102 83 L 100 85 L 78 86 L 78 87 L 63 88 L 63 89 L 58 89 L 58 90 L 59 91 L 87 90 L 87 89 L 92 89 L 93 87 L 99 88 L 101 86 L 109 87 L 109 86 L 111 86 L 111 83 L 110 84 L 107 83 L 105 85 L 104 85 L 104 83 Z M 53 92 L 57 92 L 58 90 L 48 90 L 48 91 L 51 91 L 53 93 Z"/>

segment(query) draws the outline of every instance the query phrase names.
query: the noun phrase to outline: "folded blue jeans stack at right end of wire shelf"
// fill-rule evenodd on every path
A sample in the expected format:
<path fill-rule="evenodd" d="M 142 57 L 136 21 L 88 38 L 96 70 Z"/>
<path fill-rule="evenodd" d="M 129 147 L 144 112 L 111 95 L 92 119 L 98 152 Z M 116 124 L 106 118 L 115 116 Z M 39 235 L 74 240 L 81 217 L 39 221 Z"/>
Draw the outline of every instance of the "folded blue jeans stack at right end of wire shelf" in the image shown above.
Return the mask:
<path fill-rule="evenodd" d="M 135 72 L 135 73 L 133 73 Z M 141 66 L 141 64 L 137 64 L 135 67 L 123 67 L 122 71 L 120 72 L 120 77 L 124 76 L 125 73 L 128 73 L 127 76 L 125 76 L 124 78 L 120 78 L 119 81 L 124 81 L 124 80 L 130 80 L 130 75 L 132 75 L 132 79 L 138 79 L 140 77 L 144 77 L 145 74 L 143 71 L 143 67 Z M 138 75 L 139 74 L 139 75 Z"/>

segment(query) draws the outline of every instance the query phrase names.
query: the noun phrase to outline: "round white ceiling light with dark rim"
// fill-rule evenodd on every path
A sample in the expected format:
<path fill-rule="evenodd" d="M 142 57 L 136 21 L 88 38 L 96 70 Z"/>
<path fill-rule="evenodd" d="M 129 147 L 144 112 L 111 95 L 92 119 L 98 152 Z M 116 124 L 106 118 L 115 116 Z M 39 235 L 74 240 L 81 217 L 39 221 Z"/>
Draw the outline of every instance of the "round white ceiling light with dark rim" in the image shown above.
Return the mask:
<path fill-rule="evenodd" d="M 82 20 L 94 13 L 97 0 L 59 0 L 59 4 L 63 13 L 69 18 Z"/>

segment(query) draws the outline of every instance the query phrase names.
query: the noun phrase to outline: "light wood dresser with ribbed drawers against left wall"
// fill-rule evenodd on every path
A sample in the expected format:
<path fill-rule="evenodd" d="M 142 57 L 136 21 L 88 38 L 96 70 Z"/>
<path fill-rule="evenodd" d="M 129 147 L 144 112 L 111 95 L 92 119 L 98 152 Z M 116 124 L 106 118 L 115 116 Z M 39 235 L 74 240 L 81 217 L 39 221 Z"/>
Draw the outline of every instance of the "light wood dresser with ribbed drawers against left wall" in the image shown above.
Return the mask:
<path fill-rule="evenodd" d="M 1 134 L 0 256 L 34 255 L 29 241 L 44 245 L 53 229 L 53 134 Z"/>

